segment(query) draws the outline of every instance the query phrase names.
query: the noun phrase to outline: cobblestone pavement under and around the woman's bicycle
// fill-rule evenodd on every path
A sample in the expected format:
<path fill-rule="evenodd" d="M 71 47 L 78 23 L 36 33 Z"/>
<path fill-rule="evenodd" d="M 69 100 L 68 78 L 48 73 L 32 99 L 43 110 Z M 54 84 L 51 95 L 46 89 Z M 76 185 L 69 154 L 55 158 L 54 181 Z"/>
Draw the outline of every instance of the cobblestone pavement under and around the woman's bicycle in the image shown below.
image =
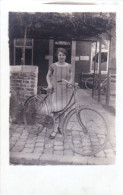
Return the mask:
<path fill-rule="evenodd" d="M 83 156 L 74 152 L 68 145 L 67 140 L 64 139 L 61 134 L 57 134 L 55 139 L 49 139 L 49 135 L 52 131 L 51 129 L 44 128 L 43 131 L 38 134 L 31 134 L 31 126 L 25 126 L 24 124 L 10 124 L 10 164 L 113 164 L 115 162 L 116 154 L 115 116 L 107 112 L 101 104 L 92 99 L 89 94 L 82 89 L 79 91 L 78 99 L 79 101 L 82 100 L 83 105 L 88 104 L 98 110 L 106 119 L 109 130 L 109 139 L 103 150 L 93 156 Z M 76 129 L 77 125 L 75 125 L 74 128 Z M 80 147 L 80 133 L 77 135 L 74 128 L 72 129 L 72 139 L 74 137 L 74 144 L 76 144 L 77 147 Z M 94 135 L 93 138 L 91 136 L 90 139 L 91 143 L 93 139 L 95 145 L 98 145 Z M 85 147 L 87 143 L 88 141 L 86 141 Z"/>

